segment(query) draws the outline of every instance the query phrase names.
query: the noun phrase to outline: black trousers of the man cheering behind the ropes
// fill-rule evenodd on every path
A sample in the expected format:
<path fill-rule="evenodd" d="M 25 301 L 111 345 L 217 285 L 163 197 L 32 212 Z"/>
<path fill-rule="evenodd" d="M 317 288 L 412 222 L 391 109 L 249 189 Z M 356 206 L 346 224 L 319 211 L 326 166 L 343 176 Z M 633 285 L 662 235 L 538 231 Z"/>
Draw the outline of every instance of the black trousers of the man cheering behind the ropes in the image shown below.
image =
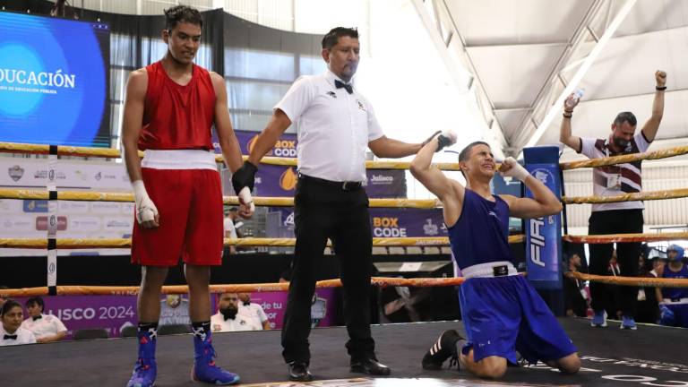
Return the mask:
<path fill-rule="evenodd" d="M 641 233 L 642 210 L 612 210 L 592 212 L 589 219 L 589 235 Z M 609 259 L 612 257 L 612 244 L 590 244 L 590 274 L 607 275 Z M 622 277 L 638 277 L 638 259 L 641 256 L 641 243 L 617 243 L 616 260 L 619 263 Z M 625 316 L 633 317 L 638 303 L 638 288 L 620 286 L 618 289 L 619 305 L 609 305 L 613 299 L 614 285 L 590 282 L 592 309 L 596 312 L 608 307 L 621 310 Z"/>

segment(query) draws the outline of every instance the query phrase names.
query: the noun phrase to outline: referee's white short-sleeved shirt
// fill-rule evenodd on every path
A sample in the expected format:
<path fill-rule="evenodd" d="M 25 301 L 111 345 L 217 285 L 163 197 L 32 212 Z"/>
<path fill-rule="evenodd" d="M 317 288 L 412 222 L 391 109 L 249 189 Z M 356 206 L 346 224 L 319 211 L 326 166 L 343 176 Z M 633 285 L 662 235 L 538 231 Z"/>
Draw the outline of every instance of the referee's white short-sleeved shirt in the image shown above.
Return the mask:
<path fill-rule="evenodd" d="M 297 79 L 274 108 L 297 127 L 298 171 L 326 180 L 366 181 L 368 142 L 383 136 L 373 106 L 354 88 L 337 89 L 330 70 Z"/>

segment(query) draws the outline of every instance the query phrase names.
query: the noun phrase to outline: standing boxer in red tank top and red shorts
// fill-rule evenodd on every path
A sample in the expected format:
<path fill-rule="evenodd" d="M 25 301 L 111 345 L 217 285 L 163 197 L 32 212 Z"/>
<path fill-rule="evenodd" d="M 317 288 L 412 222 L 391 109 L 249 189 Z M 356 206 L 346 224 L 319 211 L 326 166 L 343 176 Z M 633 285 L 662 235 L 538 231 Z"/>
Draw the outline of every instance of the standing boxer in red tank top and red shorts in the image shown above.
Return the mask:
<path fill-rule="evenodd" d="M 233 384 L 238 375 L 215 365 L 211 345 L 210 267 L 221 263 L 223 237 L 222 186 L 211 127 L 215 125 L 232 172 L 242 165 L 241 150 L 229 120 L 224 79 L 193 64 L 201 41 L 201 13 L 179 5 L 165 16 L 162 39 L 167 54 L 134 71 L 126 86 L 122 145 L 136 202 L 132 262 L 142 265 L 139 357 L 127 385 L 155 383 L 160 288 L 180 257 L 189 284 L 192 378 Z M 145 150 L 142 160 L 137 150 Z M 252 215 L 250 205 L 242 204 L 239 211 Z"/>

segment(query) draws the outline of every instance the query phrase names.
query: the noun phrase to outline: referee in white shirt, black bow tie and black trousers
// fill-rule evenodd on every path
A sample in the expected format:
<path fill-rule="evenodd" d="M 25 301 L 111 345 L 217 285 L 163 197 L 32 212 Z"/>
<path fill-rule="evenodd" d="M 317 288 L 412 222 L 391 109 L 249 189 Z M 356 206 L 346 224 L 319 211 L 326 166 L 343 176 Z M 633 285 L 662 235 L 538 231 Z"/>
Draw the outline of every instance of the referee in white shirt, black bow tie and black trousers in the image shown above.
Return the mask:
<path fill-rule="evenodd" d="M 384 136 L 370 102 L 351 83 L 359 50 L 356 29 L 337 27 L 328 32 L 322 51 L 327 70 L 294 82 L 274 107 L 271 121 L 248 160 L 232 177 L 236 192 L 245 186 L 253 189 L 256 166 L 262 157 L 289 125 L 297 126 L 297 245 L 282 330 L 282 356 L 288 363 L 291 381 L 313 379 L 308 371 L 311 300 L 316 267 L 328 238 L 340 260 L 351 371 L 390 374 L 390 368 L 377 361 L 370 334 L 373 240 L 363 187 L 366 148 L 380 158 L 400 158 L 417 153 L 422 144 Z"/>

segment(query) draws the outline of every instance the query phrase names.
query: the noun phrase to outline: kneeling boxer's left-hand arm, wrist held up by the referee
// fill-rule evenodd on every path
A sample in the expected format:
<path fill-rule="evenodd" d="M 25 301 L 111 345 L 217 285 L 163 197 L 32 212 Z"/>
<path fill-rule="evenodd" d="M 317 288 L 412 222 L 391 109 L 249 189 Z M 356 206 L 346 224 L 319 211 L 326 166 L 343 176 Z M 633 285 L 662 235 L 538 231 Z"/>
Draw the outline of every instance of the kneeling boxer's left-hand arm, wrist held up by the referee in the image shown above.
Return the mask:
<path fill-rule="evenodd" d="M 440 199 L 443 204 L 444 222 L 452 226 L 459 219 L 465 188 L 459 182 L 444 176 L 440 169 L 431 166 L 434 152 L 442 146 L 439 138 L 440 136 L 435 136 L 418 151 L 409 169 L 411 175 Z M 456 141 L 455 139 L 454 135 L 453 141 Z"/>

